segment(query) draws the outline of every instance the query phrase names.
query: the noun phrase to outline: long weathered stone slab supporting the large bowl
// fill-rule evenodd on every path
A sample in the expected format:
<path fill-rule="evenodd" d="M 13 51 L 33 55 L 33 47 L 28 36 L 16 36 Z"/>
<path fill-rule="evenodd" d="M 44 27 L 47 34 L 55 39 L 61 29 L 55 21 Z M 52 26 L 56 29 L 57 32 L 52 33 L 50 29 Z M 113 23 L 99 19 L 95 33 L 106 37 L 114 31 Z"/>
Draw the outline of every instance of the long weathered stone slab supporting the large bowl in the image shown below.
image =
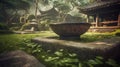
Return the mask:
<path fill-rule="evenodd" d="M 34 38 L 32 41 L 42 45 L 45 50 L 54 52 L 64 49 L 70 53 L 76 53 L 81 60 L 91 59 L 96 56 L 120 59 L 120 37 L 90 43 L 41 37 Z"/>

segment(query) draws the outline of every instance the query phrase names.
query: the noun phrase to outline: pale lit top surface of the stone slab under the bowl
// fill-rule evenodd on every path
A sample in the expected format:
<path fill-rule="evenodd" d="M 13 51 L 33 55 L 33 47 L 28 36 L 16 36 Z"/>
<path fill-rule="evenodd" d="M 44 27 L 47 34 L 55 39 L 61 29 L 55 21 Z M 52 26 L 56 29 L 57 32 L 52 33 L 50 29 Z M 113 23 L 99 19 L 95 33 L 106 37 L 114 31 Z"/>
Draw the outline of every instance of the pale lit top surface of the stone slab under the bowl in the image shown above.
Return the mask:
<path fill-rule="evenodd" d="M 58 45 L 76 47 L 76 48 L 90 48 L 90 49 L 103 49 L 103 48 L 112 47 L 115 44 L 120 43 L 120 37 L 114 37 L 111 39 L 105 39 L 102 41 L 89 42 L 89 43 L 81 43 L 75 41 L 58 40 L 58 39 L 41 38 L 41 37 L 37 37 L 32 40 L 38 43 L 45 42 L 49 44 L 58 44 Z"/>

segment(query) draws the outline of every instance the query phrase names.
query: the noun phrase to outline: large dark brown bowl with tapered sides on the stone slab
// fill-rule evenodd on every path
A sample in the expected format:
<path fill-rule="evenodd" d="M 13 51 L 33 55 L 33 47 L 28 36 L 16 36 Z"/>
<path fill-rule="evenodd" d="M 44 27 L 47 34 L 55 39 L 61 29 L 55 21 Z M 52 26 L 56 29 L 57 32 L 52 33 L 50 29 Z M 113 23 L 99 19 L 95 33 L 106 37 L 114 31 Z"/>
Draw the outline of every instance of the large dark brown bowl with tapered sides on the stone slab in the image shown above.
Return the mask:
<path fill-rule="evenodd" d="M 51 29 L 60 37 L 80 37 L 84 34 L 91 24 L 89 23 L 52 23 Z"/>

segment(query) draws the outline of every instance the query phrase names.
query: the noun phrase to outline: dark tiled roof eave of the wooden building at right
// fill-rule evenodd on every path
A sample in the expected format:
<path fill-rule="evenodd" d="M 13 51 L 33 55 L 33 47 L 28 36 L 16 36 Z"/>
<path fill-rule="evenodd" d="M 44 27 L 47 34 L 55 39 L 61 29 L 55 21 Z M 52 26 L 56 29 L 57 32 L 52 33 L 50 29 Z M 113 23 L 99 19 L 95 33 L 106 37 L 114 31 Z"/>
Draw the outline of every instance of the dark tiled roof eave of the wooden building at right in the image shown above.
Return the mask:
<path fill-rule="evenodd" d="M 91 5 L 79 8 L 84 14 L 94 15 L 97 13 L 120 12 L 120 0 L 95 2 Z"/>

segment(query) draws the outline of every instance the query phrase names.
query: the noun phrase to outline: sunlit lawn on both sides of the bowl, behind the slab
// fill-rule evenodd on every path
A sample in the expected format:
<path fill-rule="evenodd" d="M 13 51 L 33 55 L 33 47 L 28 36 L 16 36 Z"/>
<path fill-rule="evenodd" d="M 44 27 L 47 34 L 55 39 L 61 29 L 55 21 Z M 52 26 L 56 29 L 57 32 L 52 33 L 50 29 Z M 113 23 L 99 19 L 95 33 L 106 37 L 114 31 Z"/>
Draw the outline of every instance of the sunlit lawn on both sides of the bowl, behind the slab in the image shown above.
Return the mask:
<path fill-rule="evenodd" d="M 24 40 L 31 40 L 35 37 L 57 37 L 58 36 L 51 31 L 42 31 L 37 34 L 0 34 L 0 52 L 9 51 L 12 49 L 18 49 L 19 44 Z M 81 36 L 80 40 L 75 40 L 78 42 L 93 42 L 103 39 L 108 39 L 114 37 L 114 33 L 86 33 Z"/>

